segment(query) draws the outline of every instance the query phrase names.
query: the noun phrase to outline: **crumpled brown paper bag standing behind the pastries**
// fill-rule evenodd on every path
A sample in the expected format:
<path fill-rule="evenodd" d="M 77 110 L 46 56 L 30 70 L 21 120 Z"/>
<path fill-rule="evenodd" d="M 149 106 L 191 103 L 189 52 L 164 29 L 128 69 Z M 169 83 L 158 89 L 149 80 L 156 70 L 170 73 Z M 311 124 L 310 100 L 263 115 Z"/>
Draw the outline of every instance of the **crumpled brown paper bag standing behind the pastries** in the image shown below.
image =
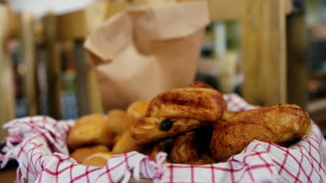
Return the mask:
<path fill-rule="evenodd" d="M 188 2 L 128 8 L 96 28 L 84 47 L 104 110 L 192 82 L 208 22 L 206 3 Z"/>

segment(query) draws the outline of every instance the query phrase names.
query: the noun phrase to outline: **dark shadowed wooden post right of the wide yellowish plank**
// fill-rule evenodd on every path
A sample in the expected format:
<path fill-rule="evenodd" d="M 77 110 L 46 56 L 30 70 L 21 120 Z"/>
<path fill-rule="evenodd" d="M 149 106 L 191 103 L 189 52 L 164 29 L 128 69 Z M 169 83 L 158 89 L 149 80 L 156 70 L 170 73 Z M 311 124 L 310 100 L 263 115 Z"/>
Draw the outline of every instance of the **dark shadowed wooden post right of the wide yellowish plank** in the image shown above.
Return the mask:
<path fill-rule="evenodd" d="M 304 0 L 302 0 L 304 3 Z M 304 4 L 302 4 L 304 8 Z M 307 37 L 304 10 L 297 10 L 286 19 L 288 103 L 306 109 L 308 102 Z"/>

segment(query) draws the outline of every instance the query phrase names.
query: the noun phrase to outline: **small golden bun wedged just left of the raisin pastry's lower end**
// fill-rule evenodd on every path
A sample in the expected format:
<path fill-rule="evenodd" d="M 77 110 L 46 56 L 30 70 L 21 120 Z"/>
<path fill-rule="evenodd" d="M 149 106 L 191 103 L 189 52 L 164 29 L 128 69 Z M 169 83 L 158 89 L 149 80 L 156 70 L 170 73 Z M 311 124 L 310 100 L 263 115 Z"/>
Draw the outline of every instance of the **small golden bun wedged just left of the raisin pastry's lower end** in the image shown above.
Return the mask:
<path fill-rule="evenodd" d="M 116 141 L 112 149 L 112 152 L 116 154 L 123 154 L 133 150 L 140 151 L 142 148 L 143 146 L 135 143 L 134 139 L 130 137 L 130 130 L 127 130 Z"/>

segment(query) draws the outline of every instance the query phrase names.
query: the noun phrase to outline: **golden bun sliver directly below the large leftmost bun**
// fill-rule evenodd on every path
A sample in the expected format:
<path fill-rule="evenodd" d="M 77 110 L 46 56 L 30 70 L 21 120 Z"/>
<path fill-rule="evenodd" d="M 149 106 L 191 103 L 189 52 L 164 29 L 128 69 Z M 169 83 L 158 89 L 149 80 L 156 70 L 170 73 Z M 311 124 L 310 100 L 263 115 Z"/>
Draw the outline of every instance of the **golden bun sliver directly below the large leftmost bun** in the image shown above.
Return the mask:
<path fill-rule="evenodd" d="M 77 148 L 74 152 L 71 153 L 70 157 L 76 160 L 77 163 L 81 163 L 88 157 L 94 153 L 103 153 L 109 152 L 109 148 L 107 146 L 91 146 L 91 147 L 84 147 L 84 148 Z"/>

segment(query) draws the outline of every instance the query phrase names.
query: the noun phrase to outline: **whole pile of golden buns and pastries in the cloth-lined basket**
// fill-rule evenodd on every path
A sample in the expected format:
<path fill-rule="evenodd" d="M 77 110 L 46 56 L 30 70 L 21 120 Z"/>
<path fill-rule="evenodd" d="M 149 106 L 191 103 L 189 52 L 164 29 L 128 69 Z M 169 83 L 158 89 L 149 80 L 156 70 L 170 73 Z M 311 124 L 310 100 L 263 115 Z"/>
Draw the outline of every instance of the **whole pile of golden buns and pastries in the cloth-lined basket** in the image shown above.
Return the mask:
<path fill-rule="evenodd" d="M 222 93 L 203 82 L 173 89 L 126 110 L 78 119 L 68 134 L 70 155 L 78 163 L 104 166 L 113 155 L 137 150 L 166 162 L 225 162 L 254 139 L 290 146 L 311 130 L 308 114 L 293 104 L 229 112 Z"/>

